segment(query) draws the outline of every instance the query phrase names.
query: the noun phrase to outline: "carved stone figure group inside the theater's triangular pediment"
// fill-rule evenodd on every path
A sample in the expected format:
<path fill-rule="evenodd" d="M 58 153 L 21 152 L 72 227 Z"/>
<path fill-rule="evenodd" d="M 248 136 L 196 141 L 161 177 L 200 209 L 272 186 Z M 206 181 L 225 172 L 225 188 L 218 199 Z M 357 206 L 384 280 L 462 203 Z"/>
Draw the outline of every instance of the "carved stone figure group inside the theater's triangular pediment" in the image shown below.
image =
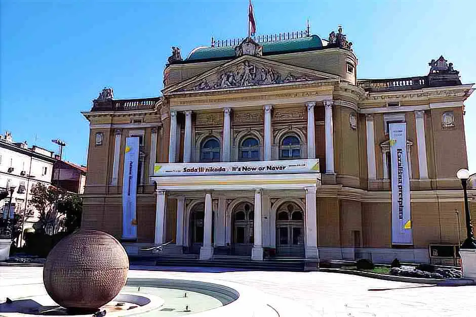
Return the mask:
<path fill-rule="evenodd" d="M 248 87 L 256 85 L 270 85 L 314 80 L 302 74 L 287 73 L 286 75 L 266 65 L 259 65 L 250 61 L 244 61 L 231 70 L 223 71 L 216 80 L 205 78 L 192 90 L 222 89 L 229 87 Z M 185 87 L 181 91 L 189 90 Z"/>

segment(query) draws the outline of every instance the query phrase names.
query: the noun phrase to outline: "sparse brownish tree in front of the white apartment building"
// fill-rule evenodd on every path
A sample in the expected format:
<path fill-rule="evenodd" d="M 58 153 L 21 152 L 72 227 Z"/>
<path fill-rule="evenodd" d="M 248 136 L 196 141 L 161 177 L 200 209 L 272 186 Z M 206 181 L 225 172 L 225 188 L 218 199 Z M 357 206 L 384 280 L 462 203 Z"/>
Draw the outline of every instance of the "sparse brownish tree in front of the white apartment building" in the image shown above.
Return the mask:
<path fill-rule="evenodd" d="M 56 187 L 38 183 L 31 188 L 30 203 L 39 211 L 39 219 L 34 228 L 38 233 L 54 234 L 61 213 L 56 212 L 56 203 L 63 199 L 65 192 Z"/>

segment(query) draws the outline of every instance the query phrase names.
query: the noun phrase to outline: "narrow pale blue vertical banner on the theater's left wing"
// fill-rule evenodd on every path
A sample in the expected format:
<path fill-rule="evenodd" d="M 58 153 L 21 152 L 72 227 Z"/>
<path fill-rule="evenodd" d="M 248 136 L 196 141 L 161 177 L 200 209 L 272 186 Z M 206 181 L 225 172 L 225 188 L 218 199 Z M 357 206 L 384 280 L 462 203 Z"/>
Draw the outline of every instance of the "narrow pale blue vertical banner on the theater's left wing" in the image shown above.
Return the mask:
<path fill-rule="evenodd" d="M 139 138 L 126 138 L 123 178 L 123 239 L 137 239 L 137 168 L 139 164 Z"/>

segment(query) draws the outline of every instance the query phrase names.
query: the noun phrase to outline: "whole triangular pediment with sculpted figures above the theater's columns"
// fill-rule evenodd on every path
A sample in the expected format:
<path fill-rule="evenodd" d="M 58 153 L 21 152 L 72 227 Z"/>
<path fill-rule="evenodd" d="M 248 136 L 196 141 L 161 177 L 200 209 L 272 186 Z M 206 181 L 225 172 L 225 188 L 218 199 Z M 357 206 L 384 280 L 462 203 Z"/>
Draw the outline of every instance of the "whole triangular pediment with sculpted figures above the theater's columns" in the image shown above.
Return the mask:
<path fill-rule="evenodd" d="M 163 90 L 164 95 L 182 92 L 288 84 L 338 79 L 337 75 L 258 58 L 242 56 L 201 75 Z"/>

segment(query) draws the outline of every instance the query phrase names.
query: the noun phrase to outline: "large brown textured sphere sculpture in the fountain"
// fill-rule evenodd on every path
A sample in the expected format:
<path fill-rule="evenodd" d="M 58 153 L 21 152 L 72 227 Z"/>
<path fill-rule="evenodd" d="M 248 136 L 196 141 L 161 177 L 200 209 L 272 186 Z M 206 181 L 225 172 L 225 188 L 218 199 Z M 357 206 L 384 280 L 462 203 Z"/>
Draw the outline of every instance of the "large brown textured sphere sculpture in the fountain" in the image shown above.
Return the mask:
<path fill-rule="evenodd" d="M 126 250 L 102 231 L 77 230 L 46 258 L 43 283 L 68 313 L 93 313 L 124 287 L 129 270 Z"/>

